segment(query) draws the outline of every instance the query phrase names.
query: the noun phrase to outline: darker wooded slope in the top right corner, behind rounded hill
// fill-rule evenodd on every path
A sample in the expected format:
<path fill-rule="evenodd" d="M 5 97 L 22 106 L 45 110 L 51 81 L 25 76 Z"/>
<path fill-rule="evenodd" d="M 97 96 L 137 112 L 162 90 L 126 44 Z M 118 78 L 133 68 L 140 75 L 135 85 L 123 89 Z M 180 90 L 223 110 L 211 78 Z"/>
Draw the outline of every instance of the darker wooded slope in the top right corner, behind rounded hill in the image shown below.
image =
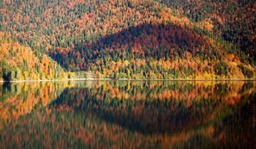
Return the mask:
<path fill-rule="evenodd" d="M 157 0 L 195 22 L 213 25 L 213 33 L 232 42 L 255 63 L 256 5 L 253 0 Z"/>

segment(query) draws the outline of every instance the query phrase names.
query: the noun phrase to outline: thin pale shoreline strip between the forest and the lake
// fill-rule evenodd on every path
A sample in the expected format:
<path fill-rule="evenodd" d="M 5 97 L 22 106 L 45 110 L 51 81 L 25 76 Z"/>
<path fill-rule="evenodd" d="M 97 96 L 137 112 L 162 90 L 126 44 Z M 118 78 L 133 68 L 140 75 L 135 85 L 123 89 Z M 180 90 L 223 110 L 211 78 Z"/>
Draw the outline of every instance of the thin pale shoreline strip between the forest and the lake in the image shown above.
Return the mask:
<path fill-rule="evenodd" d="M 196 78 L 172 78 L 172 79 L 112 79 L 112 78 L 68 78 L 68 79 L 28 79 L 3 81 L 0 83 L 33 83 L 33 82 L 65 82 L 65 81 L 256 81 L 254 78 L 213 78 L 213 79 L 196 79 Z"/>

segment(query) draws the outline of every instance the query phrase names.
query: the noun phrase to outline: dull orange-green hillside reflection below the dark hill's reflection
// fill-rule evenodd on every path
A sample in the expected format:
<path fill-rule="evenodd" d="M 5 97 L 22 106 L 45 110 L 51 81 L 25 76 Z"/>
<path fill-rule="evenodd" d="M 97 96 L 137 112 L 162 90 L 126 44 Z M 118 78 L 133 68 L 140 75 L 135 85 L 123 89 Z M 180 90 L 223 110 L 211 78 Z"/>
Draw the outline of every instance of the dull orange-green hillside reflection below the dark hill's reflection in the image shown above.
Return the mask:
<path fill-rule="evenodd" d="M 44 115 L 43 118 L 42 115 Z M 1 146 L 10 147 L 13 144 L 3 145 L 1 143 L 16 140 L 17 146 L 22 146 L 22 142 L 26 142 L 23 146 L 31 147 L 35 146 L 37 142 L 43 148 L 49 148 L 50 146 L 54 146 L 54 148 L 78 147 L 79 144 L 95 148 L 106 146 L 116 148 L 121 146 L 125 146 L 125 148 L 144 146 L 152 148 L 157 142 L 159 143 L 158 146 L 171 146 L 189 140 L 195 134 L 208 135 L 209 129 L 206 127 L 174 135 L 144 135 L 144 133 L 130 132 L 128 129 L 102 121 L 93 115 L 74 115 L 74 113 L 65 110 L 54 111 L 51 115 L 45 115 L 44 110 L 38 111 L 34 115 L 27 116 L 26 119 L 15 121 L 12 123 L 12 127 L 19 127 L 20 130 L 15 131 L 9 127 L 5 129 L 2 133 L 4 138 L 0 136 L 2 139 L 0 141 Z M 209 132 L 209 134 L 212 133 Z M 35 137 L 31 138 L 31 135 Z"/>

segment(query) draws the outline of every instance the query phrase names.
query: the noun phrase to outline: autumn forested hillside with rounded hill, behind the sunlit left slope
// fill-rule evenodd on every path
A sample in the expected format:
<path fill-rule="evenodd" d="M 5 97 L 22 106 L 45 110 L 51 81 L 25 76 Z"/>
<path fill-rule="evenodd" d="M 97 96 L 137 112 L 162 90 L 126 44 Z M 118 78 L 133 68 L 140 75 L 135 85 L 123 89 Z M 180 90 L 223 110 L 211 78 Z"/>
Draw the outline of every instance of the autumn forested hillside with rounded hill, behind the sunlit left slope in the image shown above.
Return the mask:
<path fill-rule="evenodd" d="M 88 78 L 253 78 L 255 5 L 208 1 L 2 0 L 0 30 Z"/>

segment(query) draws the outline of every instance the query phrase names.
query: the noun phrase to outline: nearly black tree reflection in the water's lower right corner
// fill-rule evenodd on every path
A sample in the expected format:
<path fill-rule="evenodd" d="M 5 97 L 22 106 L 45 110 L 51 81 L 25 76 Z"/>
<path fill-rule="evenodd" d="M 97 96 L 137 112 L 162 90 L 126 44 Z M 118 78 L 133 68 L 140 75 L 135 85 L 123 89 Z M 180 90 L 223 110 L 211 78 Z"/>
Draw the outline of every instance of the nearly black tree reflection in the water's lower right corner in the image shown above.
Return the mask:
<path fill-rule="evenodd" d="M 244 87 L 244 86 L 243 86 Z M 229 106 L 214 118 L 214 136 L 227 139 L 223 148 L 254 148 L 256 92 L 241 96 L 239 104 Z"/>

